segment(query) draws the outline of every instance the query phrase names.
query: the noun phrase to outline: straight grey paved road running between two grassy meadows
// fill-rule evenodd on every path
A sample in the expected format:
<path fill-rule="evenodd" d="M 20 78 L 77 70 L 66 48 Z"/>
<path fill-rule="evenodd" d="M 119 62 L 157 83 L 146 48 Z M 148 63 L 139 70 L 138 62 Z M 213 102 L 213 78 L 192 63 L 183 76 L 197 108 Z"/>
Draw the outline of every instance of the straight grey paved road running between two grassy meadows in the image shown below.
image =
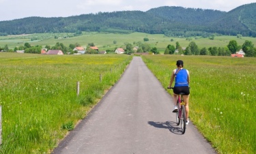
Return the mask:
<path fill-rule="evenodd" d="M 193 123 L 181 134 L 171 101 L 141 57 L 134 57 L 119 82 L 53 153 L 216 153 Z"/>

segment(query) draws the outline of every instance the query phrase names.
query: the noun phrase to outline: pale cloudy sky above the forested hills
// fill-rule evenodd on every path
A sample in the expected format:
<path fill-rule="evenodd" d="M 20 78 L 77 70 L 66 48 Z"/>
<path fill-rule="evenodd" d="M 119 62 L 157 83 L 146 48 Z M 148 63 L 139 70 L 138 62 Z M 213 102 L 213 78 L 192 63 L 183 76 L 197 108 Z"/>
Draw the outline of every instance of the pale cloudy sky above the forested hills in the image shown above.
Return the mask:
<path fill-rule="evenodd" d="M 255 0 L 0 0 L 0 21 L 40 17 L 67 17 L 98 12 L 139 10 L 180 6 L 229 12 Z"/>

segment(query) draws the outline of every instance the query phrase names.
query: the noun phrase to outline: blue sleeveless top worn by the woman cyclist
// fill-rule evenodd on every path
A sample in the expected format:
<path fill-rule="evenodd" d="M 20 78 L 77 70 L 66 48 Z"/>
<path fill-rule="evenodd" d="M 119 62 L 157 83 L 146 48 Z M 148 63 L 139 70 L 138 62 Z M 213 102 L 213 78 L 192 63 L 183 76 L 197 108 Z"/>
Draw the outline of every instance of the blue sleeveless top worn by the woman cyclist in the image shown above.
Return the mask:
<path fill-rule="evenodd" d="M 185 69 L 175 73 L 175 85 L 174 87 L 188 86 L 188 73 Z"/>

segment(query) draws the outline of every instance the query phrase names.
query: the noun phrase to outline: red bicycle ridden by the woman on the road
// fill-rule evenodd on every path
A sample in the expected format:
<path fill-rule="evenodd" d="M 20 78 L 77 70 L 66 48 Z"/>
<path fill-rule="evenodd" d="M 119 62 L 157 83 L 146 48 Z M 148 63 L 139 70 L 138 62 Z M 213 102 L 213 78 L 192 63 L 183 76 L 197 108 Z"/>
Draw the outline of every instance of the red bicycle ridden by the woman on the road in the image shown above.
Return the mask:
<path fill-rule="evenodd" d="M 173 89 L 173 87 L 167 88 Z M 176 122 L 177 125 L 180 125 L 182 128 L 182 134 L 186 131 L 186 110 L 185 110 L 185 102 L 183 99 L 184 93 L 179 93 L 177 98 L 177 112 L 176 112 Z"/>

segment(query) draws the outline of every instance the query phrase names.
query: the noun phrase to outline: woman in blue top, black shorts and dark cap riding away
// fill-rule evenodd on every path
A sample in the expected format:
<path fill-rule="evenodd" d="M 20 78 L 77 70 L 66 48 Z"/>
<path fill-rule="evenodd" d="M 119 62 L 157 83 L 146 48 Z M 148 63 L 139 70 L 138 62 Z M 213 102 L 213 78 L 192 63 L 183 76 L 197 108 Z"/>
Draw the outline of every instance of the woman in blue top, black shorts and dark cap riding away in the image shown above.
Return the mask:
<path fill-rule="evenodd" d="M 179 93 L 184 93 L 183 99 L 185 102 L 185 108 L 186 108 L 186 125 L 189 123 L 188 119 L 188 99 L 189 99 L 189 82 L 190 82 L 190 77 L 189 77 L 189 72 L 188 70 L 185 70 L 183 68 L 183 61 L 178 60 L 177 63 L 177 69 L 173 70 L 171 74 L 171 80 L 169 84 L 169 88 L 171 88 L 171 84 L 173 84 L 173 80 L 175 78 L 175 85 L 173 87 L 173 100 L 174 104 L 177 103 L 177 98 Z M 174 106 L 173 112 L 177 112 L 177 106 Z"/>

